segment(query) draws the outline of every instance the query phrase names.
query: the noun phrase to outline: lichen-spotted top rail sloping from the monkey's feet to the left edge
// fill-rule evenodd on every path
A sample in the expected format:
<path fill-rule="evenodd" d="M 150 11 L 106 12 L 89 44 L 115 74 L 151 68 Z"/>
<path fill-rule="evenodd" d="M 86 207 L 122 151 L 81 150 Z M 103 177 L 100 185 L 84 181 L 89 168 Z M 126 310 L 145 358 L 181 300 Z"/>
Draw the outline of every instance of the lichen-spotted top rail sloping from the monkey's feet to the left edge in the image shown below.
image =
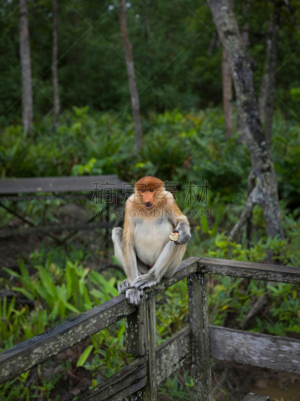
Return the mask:
<path fill-rule="evenodd" d="M 0 354 L 0 383 L 10 380 L 134 312 L 124 295 L 70 319 Z"/>

